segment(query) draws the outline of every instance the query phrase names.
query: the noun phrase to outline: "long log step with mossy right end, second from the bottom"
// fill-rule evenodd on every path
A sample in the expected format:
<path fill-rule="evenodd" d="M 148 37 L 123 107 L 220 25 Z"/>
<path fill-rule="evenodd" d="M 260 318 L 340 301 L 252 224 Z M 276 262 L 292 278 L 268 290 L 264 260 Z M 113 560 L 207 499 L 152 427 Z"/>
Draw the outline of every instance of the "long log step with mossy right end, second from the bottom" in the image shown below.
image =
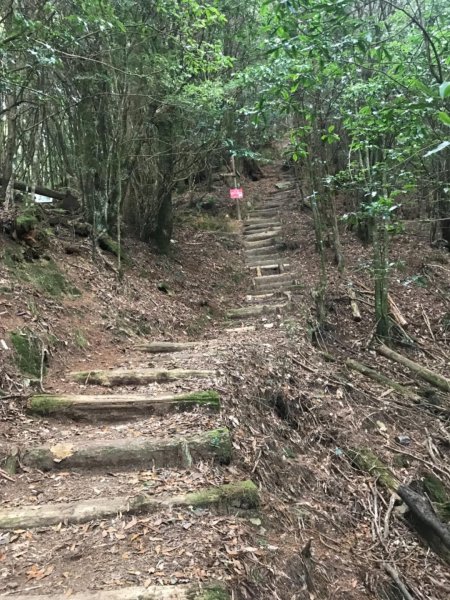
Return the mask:
<path fill-rule="evenodd" d="M 252 481 L 241 481 L 178 496 L 119 496 L 92 498 L 64 504 L 32 504 L 0 509 L 0 529 L 51 527 L 59 523 L 87 523 L 122 515 L 156 513 L 170 508 L 215 508 L 223 512 L 259 506 L 259 491 Z"/>

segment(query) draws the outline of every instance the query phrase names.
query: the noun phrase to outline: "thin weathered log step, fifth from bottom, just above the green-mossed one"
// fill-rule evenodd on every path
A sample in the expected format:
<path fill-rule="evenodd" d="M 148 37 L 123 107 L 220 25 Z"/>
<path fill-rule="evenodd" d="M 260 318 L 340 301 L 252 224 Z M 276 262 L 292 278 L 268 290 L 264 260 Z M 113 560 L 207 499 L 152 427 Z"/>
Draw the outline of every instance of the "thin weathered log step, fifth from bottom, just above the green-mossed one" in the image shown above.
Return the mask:
<path fill-rule="evenodd" d="M 111 369 L 110 371 L 79 371 L 70 373 L 72 381 L 85 385 L 147 385 L 177 379 L 212 377 L 215 371 L 197 369 Z"/>

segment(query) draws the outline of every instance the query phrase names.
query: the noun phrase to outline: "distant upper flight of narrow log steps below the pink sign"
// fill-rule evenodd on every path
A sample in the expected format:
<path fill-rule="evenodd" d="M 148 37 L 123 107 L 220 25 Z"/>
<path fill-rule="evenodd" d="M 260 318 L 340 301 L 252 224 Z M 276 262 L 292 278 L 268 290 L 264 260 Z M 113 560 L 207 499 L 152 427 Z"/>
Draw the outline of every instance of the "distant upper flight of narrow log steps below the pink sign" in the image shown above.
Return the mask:
<path fill-rule="evenodd" d="M 258 202 L 248 212 L 244 222 L 244 252 L 246 267 L 252 273 L 252 288 L 246 296 L 246 306 L 228 311 L 229 319 L 244 321 L 251 317 L 280 313 L 291 300 L 296 281 L 290 265 L 279 250 L 282 223 L 281 211 L 292 198 L 294 179 L 286 175 L 274 184 L 269 198 Z"/>

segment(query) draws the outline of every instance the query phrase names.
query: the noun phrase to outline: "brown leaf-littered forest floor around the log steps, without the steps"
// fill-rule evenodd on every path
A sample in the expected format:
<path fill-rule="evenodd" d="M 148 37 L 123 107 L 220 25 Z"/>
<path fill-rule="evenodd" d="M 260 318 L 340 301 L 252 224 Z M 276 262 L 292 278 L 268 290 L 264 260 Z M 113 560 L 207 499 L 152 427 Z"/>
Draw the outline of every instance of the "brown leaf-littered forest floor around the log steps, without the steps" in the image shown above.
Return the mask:
<path fill-rule="evenodd" d="M 250 203 L 270 195 L 271 176 L 283 176 L 276 167 L 267 167 L 266 174 L 260 181 L 247 183 Z M 400 600 L 401 592 L 383 568 L 389 563 L 401 574 L 413 598 L 448 598 L 448 565 L 391 507 L 390 494 L 377 477 L 358 471 L 348 458 L 348 450 L 370 448 L 401 482 L 420 482 L 433 473 L 450 490 L 449 395 L 430 391 L 428 403 L 414 405 L 344 364 L 354 358 L 383 369 L 411 389 L 416 384 L 411 373 L 378 356 L 370 346 L 374 331 L 372 297 L 366 292 L 372 289 L 370 249 L 345 231 L 347 268 L 342 275 L 332 265 L 330 251 L 329 326 L 317 335 L 311 295 L 318 278 L 312 217 L 307 209 L 301 210 L 297 194 L 288 192 L 282 219 L 284 252 L 298 281 L 292 308 L 286 314 L 246 320 L 243 324 L 253 324 L 255 330 L 232 336 L 224 332 L 225 311 L 245 305 L 250 278 L 242 259 L 239 227 L 227 217 L 232 213 L 226 195 L 226 188 L 217 184 L 212 193 L 217 208 L 212 215 L 193 213 L 187 206 L 181 211 L 171 257 L 157 257 L 145 245 L 127 242 L 131 264 L 122 280 L 112 268 L 114 257 L 101 253 L 93 259 L 89 242 L 77 238 L 70 228 L 54 230 L 49 247 L 31 262 L 21 258 L 26 248 L 6 236 L 0 239 L 0 342 L 4 340 L 0 383 L 5 394 L 0 400 L 0 439 L 5 446 L 23 439 L 31 443 L 73 435 L 76 426 L 70 422 L 56 429 L 52 422 L 38 423 L 25 413 L 30 386 L 39 389 L 42 384 L 47 392 L 71 391 L 66 378 L 69 371 L 151 366 L 151 357 L 137 359 L 132 352 L 142 339 L 203 340 L 205 346 L 190 357 L 189 364 L 218 369 L 221 416 L 152 421 L 135 435 L 157 435 L 158 428 L 170 435 L 195 427 L 227 426 L 233 435 L 233 463 L 220 471 L 204 464 L 183 477 L 162 470 L 95 481 L 25 471 L 15 481 L 0 479 L 0 491 L 8 505 L 17 505 L 17 490 L 20 502 L 39 503 L 74 493 L 83 498 L 93 486 L 99 494 L 111 487 L 139 491 L 151 480 L 157 491 L 176 492 L 186 485 L 193 490 L 232 477 L 251 478 L 262 491 L 260 516 L 217 520 L 214 535 L 203 538 L 209 572 L 186 565 L 172 573 L 168 560 L 169 567 L 160 565 L 156 573 L 145 572 L 148 557 L 142 550 L 139 559 L 140 550 L 132 546 L 147 535 L 145 520 L 129 529 L 130 521 L 124 522 L 119 531 L 80 526 L 76 547 L 68 546 L 63 528 L 58 546 L 51 536 L 48 540 L 41 537 L 34 555 L 33 536 L 1 534 L 0 589 L 11 594 L 24 588 L 34 591 L 38 587 L 39 593 L 58 586 L 63 589 L 65 575 L 59 559 L 61 552 L 69 552 L 78 577 L 95 579 L 100 573 L 109 586 L 122 585 L 124 578 L 128 583 L 183 583 L 213 574 L 229 582 L 237 598 Z M 430 248 L 424 236 L 407 230 L 392 241 L 392 261 L 391 293 L 407 320 L 405 330 L 415 340 L 414 348 L 401 351 L 448 375 L 450 254 Z M 50 264 L 66 283 L 55 276 L 49 285 L 39 268 L 33 272 L 33 267 L 47 269 Z M 55 281 L 59 288 L 55 289 Z M 352 318 L 349 281 L 357 291 L 361 322 Z M 31 344 L 32 352 L 27 355 L 33 372 L 26 377 L 14 359 L 13 332 L 20 339 L 36 340 L 34 351 Z M 176 365 L 168 366 L 183 366 L 185 360 L 180 356 Z M 187 391 L 179 384 L 173 389 Z M 102 435 L 111 433 L 106 428 Z M 124 435 L 134 435 L 132 423 Z M 406 445 L 398 442 L 406 438 Z M 157 552 L 161 557 L 176 552 L 179 543 L 177 537 L 165 537 L 167 519 L 151 523 L 151 535 L 161 540 Z M 180 523 L 177 531 L 191 546 L 206 535 L 201 516 Z M 99 540 L 102 550 L 94 557 L 86 555 L 85 549 Z M 44 574 L 48 570 L 42 578 L 30 576 L 32 558 L 28 571 L 14 568 L 18 557 L 27 552 L 35 556 L 38 550 L 45 556 L 45 564 L 39 567 Z M 106 564 L 116 564 L 119 572 L 128 560 L 124 558 L 127 552 L 133 557 L 132 565 L 119 581 L 107 573 Z M 197 558 L 195 564 L 201 564 Z"/>

